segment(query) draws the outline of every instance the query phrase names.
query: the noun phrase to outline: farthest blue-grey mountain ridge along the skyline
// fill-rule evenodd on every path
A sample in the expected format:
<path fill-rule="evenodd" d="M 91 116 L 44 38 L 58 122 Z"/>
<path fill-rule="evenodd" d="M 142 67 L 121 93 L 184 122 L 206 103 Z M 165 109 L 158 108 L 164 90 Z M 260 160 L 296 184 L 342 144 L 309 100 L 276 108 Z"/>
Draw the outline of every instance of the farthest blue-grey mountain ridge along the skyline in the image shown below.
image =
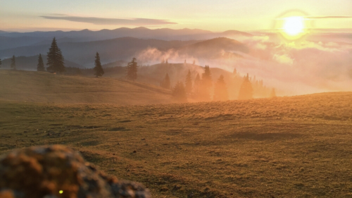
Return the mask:
<path fill-rule="evenodd" d="M 226 32 L 211 32 L 199 29 L 169 28 L 151 30 L 146 27 L 127 28 L 121 27 L 115 30 L 80 30 L 80 31 L 51 31 L 51 32 L 4 32 L 1 31 L 0 49 L 12 49 L 15 47 L 50 44 L 53 37 L 60 42 L 92 42 L 106 39 L 116 39 L 120 37 L 135 37 L 139 39 L 162 39 L 171 40 L 204 40 L 217 37 L 251 37 L 247 32 L 228 30 Z M 27 40 L 25 39 L 27 38 Z M 22 43 L 22 45 L 20 45 Z"/>

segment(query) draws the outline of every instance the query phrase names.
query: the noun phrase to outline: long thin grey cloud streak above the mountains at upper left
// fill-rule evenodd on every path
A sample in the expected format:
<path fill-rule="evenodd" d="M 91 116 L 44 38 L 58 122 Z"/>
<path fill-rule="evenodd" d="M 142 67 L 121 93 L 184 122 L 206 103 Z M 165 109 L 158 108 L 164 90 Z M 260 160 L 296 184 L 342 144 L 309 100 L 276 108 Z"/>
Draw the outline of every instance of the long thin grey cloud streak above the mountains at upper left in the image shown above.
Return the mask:
<path fill-rule="evenodd" d="M 68 20 L 80 23 L 92 23 L 94 25 L 170 25 L 177 24 L 168 20 L 151 19 L 151 18 L 96 18 L 96 17 L 80 17 L 80 16 L 40 16 L 51 20 Z"/>

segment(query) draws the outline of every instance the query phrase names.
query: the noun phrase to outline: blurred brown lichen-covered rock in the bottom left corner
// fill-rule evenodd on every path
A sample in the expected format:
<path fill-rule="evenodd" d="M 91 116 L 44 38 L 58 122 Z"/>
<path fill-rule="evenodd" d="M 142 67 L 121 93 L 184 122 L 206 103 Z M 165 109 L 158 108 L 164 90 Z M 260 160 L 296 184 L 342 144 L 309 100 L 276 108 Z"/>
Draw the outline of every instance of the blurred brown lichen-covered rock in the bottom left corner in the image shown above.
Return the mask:
<path fill-rule="evenodd" d="M 136 182 L 119 181 L 72 149 L 30 147 L 0 157 L 0 198 L 149 198 Z"/>

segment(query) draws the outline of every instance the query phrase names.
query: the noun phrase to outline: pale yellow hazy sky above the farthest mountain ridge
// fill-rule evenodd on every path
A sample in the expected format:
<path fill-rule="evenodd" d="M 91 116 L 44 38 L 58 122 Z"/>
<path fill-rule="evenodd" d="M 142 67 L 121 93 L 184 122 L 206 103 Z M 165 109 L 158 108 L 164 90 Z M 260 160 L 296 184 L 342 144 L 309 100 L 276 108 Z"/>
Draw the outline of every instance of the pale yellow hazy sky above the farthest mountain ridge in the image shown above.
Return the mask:
<path fill-rule="evenodd" d="M 0 0 L 0 30 L 101 30 L 118 27 L 268 30 L 292 9 L 315 28 L 352 28 L 352 0 Z"/>

